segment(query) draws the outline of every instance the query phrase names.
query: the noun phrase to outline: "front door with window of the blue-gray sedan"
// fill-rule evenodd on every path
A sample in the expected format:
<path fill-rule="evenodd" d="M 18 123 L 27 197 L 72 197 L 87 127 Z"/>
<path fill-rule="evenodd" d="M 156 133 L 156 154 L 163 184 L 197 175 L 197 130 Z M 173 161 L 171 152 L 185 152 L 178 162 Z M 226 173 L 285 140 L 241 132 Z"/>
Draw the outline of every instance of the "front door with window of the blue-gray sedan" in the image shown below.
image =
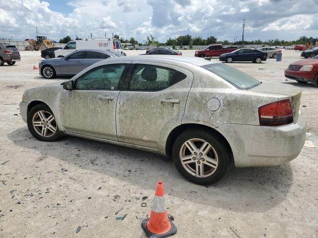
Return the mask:
<path fill-rule="evenodd" d="M 60 61 L 60 70 L 63 75 L 75 75 L 83 69 L 83 59 L 86 57 L 86 51 L 77 51 L 64 57 Z"/>

